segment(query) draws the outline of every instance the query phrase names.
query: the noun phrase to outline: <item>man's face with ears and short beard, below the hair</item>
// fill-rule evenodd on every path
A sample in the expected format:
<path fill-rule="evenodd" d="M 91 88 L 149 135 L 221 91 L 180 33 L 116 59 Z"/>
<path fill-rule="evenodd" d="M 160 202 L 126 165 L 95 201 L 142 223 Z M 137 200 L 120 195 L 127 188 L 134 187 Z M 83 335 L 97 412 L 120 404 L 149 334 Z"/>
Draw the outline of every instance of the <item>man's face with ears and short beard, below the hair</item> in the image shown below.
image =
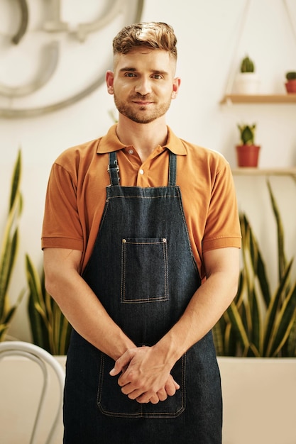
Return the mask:
<path fill-rule="evenodd" d="M 136 123 L 150 123 L 170 108 L 180 84 L 174 75 L 175 59 L 169 52 L 138 48 L 116 55 L 114 73 L 107 73 L 106 82 L 119 113 Z"/>

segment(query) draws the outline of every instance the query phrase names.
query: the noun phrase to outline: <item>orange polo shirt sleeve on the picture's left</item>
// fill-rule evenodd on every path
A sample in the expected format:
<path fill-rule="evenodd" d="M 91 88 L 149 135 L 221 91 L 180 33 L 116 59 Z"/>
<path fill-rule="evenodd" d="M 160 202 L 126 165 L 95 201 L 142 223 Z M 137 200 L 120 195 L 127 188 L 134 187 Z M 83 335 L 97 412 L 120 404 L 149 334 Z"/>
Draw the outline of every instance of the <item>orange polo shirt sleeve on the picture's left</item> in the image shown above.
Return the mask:
<path fill-rule="evenodd" d="M 48 180 L 41 247 L 83 250 L 77 180 L 57 163 L 53 165 Z"/>

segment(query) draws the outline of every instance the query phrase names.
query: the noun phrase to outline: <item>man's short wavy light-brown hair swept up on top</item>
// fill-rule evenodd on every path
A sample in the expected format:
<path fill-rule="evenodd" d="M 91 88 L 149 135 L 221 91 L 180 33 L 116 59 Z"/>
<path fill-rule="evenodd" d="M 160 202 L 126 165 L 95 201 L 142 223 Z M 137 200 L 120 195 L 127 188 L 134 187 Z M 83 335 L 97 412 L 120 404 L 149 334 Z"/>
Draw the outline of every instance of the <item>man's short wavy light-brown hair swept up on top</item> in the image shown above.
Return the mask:
<path fill-rule="evenodd" d="M 165 50 L 177 59 L 177 38 L 172 26 L 162 22 L 134 23 L 125 26 L 113 40 L 113 53 L 127 54 L 144 46 L 155 50 Z"/>

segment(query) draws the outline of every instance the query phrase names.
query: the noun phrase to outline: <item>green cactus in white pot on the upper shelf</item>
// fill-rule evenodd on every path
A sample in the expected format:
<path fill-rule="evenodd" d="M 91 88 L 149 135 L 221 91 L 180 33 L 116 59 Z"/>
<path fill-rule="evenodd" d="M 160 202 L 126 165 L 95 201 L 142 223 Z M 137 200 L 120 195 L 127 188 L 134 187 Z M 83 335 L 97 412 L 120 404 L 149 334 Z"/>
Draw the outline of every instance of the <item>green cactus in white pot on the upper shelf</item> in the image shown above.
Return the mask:
<path fill-rule="evenodd" d="M 236 75 L 236 94 L 258 94 L 259 78 L 253 60 L 246 55 L 241 60 L 240 72 Z"/>

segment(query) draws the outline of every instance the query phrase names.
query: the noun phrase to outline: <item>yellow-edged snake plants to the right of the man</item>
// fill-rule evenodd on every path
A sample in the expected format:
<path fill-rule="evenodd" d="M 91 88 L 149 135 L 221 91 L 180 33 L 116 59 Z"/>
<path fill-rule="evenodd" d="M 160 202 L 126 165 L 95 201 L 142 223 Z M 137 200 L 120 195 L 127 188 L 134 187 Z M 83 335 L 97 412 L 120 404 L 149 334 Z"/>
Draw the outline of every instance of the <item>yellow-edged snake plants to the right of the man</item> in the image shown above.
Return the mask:
<path fill-rule="evenodd" d="M 283 223 L 269 182 L 268 192 L 278 232 L 278 285 L 271 294 L 258 241 L 242 213 L 243 269 L 236 298 L 213 329 L 218 355 L 296 356 L 296 282 L 291 284 L 290 279 L 293 260 L 287 262 L 285 257 Z"/>

